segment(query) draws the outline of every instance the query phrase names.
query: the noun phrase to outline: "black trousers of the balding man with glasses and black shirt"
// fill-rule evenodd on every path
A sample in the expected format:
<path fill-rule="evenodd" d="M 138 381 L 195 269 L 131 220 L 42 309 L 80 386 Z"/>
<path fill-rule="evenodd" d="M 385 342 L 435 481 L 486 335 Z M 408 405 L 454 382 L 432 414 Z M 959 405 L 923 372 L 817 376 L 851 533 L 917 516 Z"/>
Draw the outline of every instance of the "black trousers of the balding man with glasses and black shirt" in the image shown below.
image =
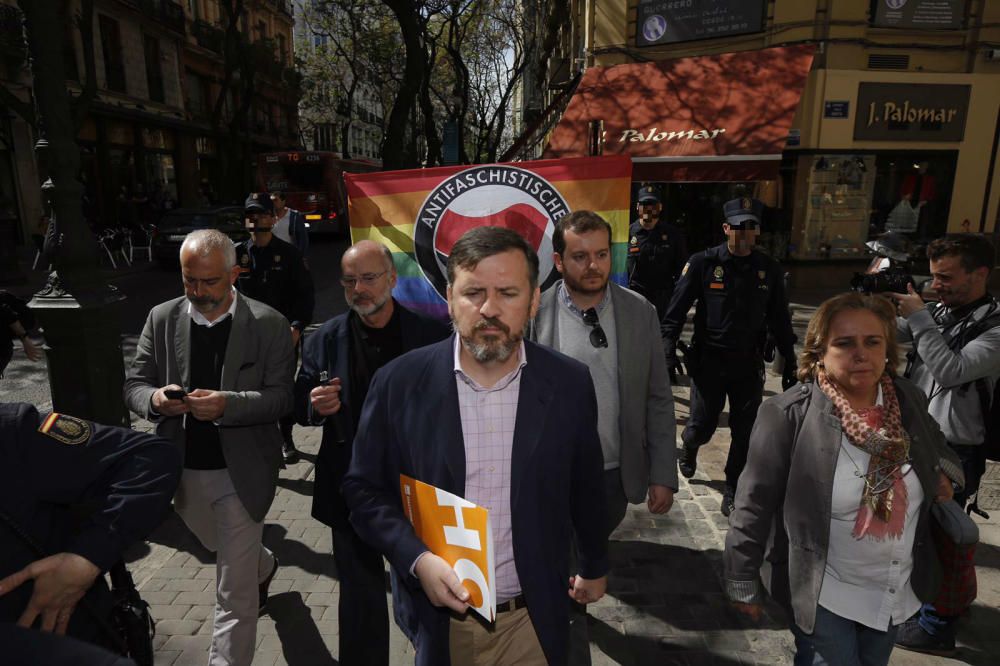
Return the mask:
<path fill-rule="evenodd" d="M 342 666 L 389 666 L 389 604 L 382 555 L 349 526 L 333 528 L 333 561 L 340 583 Z"/>

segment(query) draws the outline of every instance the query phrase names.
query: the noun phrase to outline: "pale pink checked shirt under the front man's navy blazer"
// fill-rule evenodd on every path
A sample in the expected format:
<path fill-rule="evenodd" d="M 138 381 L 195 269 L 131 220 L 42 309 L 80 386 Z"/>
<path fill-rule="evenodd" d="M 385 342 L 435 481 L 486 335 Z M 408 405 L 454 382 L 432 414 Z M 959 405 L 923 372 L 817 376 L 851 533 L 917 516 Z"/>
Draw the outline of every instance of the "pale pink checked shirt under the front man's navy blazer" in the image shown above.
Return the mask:
<path fill-rule="evenodd" d="M 465 442 L 465 499 L 486 507 L 493 529 L 497 603 L 521 593 L 514 567 L 510 522 L 510 458 L 514 446 L 521 369 L 527 364 L 524 342 L 521 362 L 496 385 L 483 388 L 462 371 L 461 344 L 455 336 L 455 383 Z"/>

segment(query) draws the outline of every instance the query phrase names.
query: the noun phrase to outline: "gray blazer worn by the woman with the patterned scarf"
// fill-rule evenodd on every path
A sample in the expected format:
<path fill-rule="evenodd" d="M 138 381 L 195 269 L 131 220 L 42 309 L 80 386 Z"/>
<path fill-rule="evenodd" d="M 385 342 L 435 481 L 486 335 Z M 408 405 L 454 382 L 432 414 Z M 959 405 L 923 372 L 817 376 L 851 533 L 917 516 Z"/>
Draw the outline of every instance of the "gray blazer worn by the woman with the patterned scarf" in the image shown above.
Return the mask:
<path fill-rule="evenodd" d="M 928 525 L 939 472 L 960 484 L 964 479 L 957 456 L 927 414 L 923 392 L 906 379 L 893 383 L 903 427 L 912 440 L 911 464 L 924 491 L 910 581 L 917 597 L 929 602 L 941 584 L 941 565 Z M 826 571 L 841 437 L 833 403 L 814 382 L 764 402 L 750 435 L 750 454 L 726 535 L 723 562 L 730 599 L 759 602 L 763 579 L 771 597 L 807 633 L 813 630 Z"/>

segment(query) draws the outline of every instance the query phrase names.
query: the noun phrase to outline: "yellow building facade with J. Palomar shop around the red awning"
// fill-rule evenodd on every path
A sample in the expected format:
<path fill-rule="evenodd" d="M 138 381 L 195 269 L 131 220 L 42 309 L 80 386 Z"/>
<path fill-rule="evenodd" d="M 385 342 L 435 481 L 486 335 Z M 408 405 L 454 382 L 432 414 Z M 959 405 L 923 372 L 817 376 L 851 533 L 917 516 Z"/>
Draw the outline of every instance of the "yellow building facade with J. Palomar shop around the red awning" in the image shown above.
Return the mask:
<path fill-rule="evenodd" d="M 568 5 L 570 20 L 555 38 L 544 103 L 558 97 L 564 81 L 589 68 L 618 72 L 615 66 L 626 64 L 715 62 L 721 54 L 797 45 L 814 49 L 775 176 L 747 179 L 732 169 L 731 178 L 717 173 L 709 182 L 662 180 L 668 213 L 673 208 L 682 218 L 695 247 L 718 238 L 717 232 L 713 238 L 696 227 L 709 221 L 717 227 L 717 204 L 736 194 L 765 200 L 773 222 L 765 241 L 777 256 L 801 262 L 862 259 L 864 242 L 883 230 L 901 231 L 915 242 L 945 232 L 997 232 L 1000 3 L 569 0 Z M 746 92 L 739 90 L 739 77 L 731 84 L 717 94 Z M 633 84 L 640 90 L 643 85 Z M 697 87 L 697 79 L 683 85 Z M 679 90 L 665 94 L 684 97 L 684 88 Z M 752 91 L 749 97 L 742 103 L 753 104 Z M 757 104 L 771 103 L 761 97 Z M 522 99 L 520 113 L 526 119 L 538 116 L 543 105 L 536 99 L 530 108 L 532 96 L 526 93 Z M 640 95 L 633 103 L 655 107 L 663 100 Z M 558 121 L 551 118 L 540 118 L 536 126 L 558 132 Z M 521 157 L 540 155 L 554 134 L 536 133 L 534 155 L 529 141 Z M 605 152 L 617 149 L 616 139 L 605 137 Z M 580 154 L 587 154 L 586 147 Z"/>

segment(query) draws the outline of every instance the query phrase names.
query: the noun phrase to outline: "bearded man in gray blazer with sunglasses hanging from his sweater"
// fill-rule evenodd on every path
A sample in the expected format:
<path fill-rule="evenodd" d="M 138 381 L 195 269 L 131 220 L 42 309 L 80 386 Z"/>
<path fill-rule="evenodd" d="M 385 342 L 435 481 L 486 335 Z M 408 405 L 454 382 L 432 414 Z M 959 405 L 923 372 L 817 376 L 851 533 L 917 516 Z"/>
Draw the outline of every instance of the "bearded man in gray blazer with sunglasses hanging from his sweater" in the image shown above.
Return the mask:
<path fill-rule="evenodd" d="M 666 513 L 677 490 L 674 399 L 656 310 L 609 282 L 611 225 L 591 211 L 556 223 L 553 260 L 563 279 L 542 294 L 533 338 L 590 367 L 610 535 L 629 502 Z"/>

